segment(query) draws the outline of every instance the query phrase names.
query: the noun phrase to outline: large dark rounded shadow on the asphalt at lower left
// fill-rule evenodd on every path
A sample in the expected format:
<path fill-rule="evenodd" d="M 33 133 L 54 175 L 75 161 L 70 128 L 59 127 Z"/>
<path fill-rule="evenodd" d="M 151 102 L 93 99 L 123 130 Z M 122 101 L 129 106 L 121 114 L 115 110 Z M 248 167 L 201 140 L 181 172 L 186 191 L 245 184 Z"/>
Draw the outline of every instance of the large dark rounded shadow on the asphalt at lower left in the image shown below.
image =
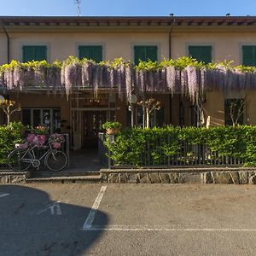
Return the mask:
<path fill-rule="evenodd" d="M 102 231 L 81 230 L 89 212 L 88 207 L 50 201 L 39 189 L 2 185 L 0 254 L 84 255 L 102 235 Z M 108 224 L 108 216 L 98 213 Z"/>

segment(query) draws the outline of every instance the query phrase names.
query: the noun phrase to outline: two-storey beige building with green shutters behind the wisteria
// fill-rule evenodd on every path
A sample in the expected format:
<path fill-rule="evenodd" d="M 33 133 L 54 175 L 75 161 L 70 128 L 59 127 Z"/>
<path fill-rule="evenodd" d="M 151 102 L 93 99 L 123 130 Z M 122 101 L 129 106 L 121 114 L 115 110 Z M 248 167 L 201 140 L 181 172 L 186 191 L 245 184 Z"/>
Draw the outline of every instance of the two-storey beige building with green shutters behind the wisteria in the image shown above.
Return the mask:
<path fill-rule="evenodd" d="M 0 17 L 0 64 L 11 60 L 65 60 L 73 55 L 95 61 L 122 57 L 163 61 L 192 56 L 198 61 L 233 61 L 256 66 L 256 17 Z M 4 90 L 19 102 L 13 120 L 48 125 L 51 131 L 72 135 L 73 149 L 96 143 L 107 119 L 131 125 L 128 103 L 116 90 L 77 90 L 69 100 L 46 90 Z M 151 125 L 196 125 L 195 104 L 181 94 L 146 93 L 161 102 Z M 256 124 L 256 90 L 223 93 L 211 90 L 202 102 L 207 125 L 230 124 L 230 104 L 243 108 L 239 123 Z M 244 102 L 244 103 L 243 103 Z M 244 105 L 243 105 L 244 104 Z M 135 124 L 142 125 L 142 108 L 135 110 Z M 4 116 L 2 113 L 2 123 Z"/>

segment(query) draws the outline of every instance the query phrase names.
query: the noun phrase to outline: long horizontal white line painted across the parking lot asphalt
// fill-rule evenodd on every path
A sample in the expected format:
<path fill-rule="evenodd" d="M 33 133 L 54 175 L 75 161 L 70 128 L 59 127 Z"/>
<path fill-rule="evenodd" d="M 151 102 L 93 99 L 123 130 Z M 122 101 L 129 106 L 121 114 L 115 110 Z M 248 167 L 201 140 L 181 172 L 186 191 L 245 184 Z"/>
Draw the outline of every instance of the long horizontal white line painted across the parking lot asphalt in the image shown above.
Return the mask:
<path fill-rule="evenodd" d="M 173 229 L 167 226 L 106 225 L 85 227 L 86 231 L 172 231 L 172 232 L 256 232 L 256 229 Z"/>

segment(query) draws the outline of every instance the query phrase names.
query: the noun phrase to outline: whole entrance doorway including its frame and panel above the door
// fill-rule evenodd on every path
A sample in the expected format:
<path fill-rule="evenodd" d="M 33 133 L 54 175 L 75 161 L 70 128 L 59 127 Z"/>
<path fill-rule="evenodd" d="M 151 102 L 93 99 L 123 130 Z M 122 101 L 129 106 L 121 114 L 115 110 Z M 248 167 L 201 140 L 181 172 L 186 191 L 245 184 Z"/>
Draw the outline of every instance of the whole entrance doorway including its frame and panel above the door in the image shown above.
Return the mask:
<path fill-rule="evenodd" d="M 116 94 L 90 92 L 71 97 L 73 149 L 97 148 L 98 133 L 107 120 L 116 119 Z"/>

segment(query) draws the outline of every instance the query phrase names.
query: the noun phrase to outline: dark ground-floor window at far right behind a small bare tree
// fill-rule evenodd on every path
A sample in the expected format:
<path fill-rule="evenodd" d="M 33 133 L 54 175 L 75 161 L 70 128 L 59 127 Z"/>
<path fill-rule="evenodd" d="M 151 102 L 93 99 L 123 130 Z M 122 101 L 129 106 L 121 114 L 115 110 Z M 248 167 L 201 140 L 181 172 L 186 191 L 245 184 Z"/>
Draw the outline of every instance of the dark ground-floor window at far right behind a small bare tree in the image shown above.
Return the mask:
<path fill-rule="evenodd" d="M 225 100 L 225 125 L 245 124 L 245 100 L 226 99 Z"/>

